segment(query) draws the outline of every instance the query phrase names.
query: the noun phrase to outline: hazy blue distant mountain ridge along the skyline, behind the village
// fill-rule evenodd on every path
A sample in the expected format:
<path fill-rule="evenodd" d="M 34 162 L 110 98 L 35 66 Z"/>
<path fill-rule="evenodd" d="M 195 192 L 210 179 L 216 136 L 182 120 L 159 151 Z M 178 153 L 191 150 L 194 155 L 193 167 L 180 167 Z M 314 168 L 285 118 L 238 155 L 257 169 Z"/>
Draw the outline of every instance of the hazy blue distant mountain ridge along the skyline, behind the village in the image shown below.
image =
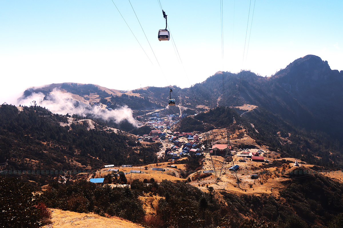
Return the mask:
<path fill-rule="evenodd" d="M 79 95 L 84 99 L 91 95 L 96 97 L 88 102 L 110 102 L 113 109 L 127 105 L 138 110 L 135 115 L 144 114 L 141 110 L 163 109 L 169 99 L 167 87 L 145 87 L 109 94 L 106 91 L 114 90 L 91 84 L 62 85 L 74 93 L 84 87 L 80 89 Z M 343 107 L 339 105 L 343 104 L 342 87 L 343 70 L 331 70 L 327 61 L 315 55 L 306 55 L 268 78 L 247 70 L 240 73 L 217 72 L 192 88 L 172 86 L 172 95 L 177 104 L 188 109 L 191 114 L 217 106 L 256 105 L 259 115 L 270 112 L 295 127 L 324 132 L 343 144 L 343 132 L 340 129 L 343 125 Z M 35 90 L 29 92 L 32 94 Z M 50 92 L 46 89 L 45 93 Z M 172 107 L 164 110 L 170 113 L 178 111 Z"/>

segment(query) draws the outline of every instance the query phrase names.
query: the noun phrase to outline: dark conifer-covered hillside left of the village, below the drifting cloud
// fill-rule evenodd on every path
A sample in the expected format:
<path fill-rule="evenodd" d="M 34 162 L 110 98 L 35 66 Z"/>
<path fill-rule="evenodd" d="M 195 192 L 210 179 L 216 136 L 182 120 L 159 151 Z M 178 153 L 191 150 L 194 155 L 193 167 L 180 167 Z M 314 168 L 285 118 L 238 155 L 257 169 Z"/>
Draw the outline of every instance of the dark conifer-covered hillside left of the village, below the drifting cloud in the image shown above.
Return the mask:
<path fill-rule="evenodd" d="M 7 169 L 79 170 L 155 159 L 157 145 L 144 147 L 144 158 L 142 145 L 137 145 L 135 138 L 104 131 L 102 122 L 91 130 L 87 130 L 86 121 L 63 127 L 60 123 L 68 123 L 67 116 L 40 106 L 21 108 L 22 111 L 11 105 L 0 107 L 0 163 L 8 159 Z"/>

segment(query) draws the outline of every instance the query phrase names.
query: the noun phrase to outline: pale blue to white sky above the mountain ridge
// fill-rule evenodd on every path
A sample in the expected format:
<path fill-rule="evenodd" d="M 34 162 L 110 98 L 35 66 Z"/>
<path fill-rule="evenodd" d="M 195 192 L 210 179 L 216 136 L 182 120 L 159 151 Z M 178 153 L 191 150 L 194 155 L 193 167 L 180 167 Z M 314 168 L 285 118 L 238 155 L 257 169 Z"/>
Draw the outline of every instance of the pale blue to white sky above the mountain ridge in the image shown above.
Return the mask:
<path fill-rule="evenodd" d="M 160 4 L 169 41 L 157 39 Z M 342 12 L 342 0 L 2 0 L 0 104 L 51 83 L 133 90 L 189 88 L 217 71 L 269 77 L 308 54 L 343 70 Z"/>

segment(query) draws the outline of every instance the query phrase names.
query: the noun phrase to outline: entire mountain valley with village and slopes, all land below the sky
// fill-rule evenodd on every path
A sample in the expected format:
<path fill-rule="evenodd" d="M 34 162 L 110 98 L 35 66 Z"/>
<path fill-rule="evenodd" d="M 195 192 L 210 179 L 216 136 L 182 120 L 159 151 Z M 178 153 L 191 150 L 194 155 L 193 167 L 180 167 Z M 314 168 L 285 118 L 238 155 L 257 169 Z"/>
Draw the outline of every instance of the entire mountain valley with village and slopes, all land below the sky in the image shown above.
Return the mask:
<path fill-rule="evenodd" d="M 171 86 L 176 106 L 81 83 L 2 104 L 4 227 L 342 227 L 343 71 L 243 73 Z"/>

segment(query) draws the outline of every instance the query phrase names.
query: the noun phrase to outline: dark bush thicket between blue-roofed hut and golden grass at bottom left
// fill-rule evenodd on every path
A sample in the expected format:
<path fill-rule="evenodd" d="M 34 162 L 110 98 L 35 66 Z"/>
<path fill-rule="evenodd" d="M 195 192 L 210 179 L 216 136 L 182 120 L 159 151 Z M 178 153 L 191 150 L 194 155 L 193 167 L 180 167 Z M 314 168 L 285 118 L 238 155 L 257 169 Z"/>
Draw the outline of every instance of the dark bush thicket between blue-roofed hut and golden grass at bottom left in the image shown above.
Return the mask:
<path fill-rule="evenodd" d="M 129 187 L 111 188 L 86 180 L 77 180 L 69 186 L 51 183 L 39 200 L 52 208 L 79 213 L 95 212 L 102 216 L 106 213 L 133 222 L 141 221 L 145 215 L 142 201 Z"/>

